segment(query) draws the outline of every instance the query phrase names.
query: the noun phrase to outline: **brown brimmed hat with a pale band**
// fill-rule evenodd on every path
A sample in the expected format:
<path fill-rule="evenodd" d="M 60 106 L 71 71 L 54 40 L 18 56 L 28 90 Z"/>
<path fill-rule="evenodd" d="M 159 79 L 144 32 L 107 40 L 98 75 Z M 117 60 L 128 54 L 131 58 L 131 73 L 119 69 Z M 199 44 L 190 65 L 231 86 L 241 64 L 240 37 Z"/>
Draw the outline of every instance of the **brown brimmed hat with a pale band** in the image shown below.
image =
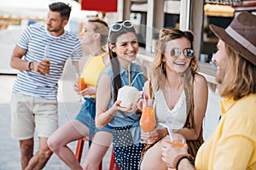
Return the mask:
<path fill-rule="evenodd" d="M 241 12 L 225 30 L 214 25 L 210 28 L 230 48 L 256 65 L 256 15 Z"/>

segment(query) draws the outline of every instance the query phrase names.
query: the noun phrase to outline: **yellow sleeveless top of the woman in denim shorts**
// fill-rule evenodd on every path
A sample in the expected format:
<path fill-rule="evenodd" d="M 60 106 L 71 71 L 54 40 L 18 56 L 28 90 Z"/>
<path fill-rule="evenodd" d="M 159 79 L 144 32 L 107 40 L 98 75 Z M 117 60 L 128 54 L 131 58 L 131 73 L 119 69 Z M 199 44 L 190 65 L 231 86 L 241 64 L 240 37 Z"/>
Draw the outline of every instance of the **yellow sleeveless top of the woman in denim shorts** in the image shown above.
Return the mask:
<path fill-rule="evenodd" d="M 81 77 L 84 77 L 84 82 L 87 85 L 96 87 L 98 78 L 101 76 L 101 73 L 106 66 L 102 60 L 106 54 L 108 54 L 108 52 L 98 56 L 90 56 L 85 63 Z M 95 95 L 85 97 L 95 97 Z"/>

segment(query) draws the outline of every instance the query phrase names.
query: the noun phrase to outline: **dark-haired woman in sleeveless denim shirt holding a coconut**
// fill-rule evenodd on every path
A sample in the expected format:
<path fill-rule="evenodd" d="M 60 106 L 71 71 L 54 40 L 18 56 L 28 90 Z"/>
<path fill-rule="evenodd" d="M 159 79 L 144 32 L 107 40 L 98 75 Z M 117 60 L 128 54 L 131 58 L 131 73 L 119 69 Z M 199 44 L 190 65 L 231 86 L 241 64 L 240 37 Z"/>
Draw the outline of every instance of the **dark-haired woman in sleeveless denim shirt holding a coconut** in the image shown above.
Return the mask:
<path fill-rule="evenodd" d="M 111 65 L 102 73 L 96 91 L 96 127 L 109 124 L 113 127 L 114 158 L 121 169 L 138 169 L 141 151 L 137 104 L 120 106 L 117 100 L 119 88 L 129 85 L 142 91 L 145 79 L 137 59 L 138 42 L 136 31 L 130 20 L 111 26 L 108 36 L 108 50 Z M 130 68 L 131 73 L 128 73 Z M 130 77 L 129 77 L 130 76 Z M 140 95 L 137 96 L 137 100 Z"/>

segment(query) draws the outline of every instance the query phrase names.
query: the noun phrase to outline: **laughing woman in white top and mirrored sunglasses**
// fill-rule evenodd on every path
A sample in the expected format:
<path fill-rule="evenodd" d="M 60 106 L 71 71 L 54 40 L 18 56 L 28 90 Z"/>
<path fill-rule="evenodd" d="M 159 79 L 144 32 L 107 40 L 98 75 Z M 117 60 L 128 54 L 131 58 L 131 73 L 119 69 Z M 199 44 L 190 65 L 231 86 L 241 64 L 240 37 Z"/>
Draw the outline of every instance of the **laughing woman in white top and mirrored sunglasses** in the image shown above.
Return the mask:
<path fill-rule="evenodd" d="M 207 81 L 198 74 L 198 63 L 193 51 L 194 36 L 190 31 L 163 29 L 155 49 L 152 66 L 152 89 L 155 100 L 157 125 L 152 133 L 142 133 L 147 144 L 143 150 L 141 169 L 166 169 L 161 161 L 161 145 L 169 133 L 180 133 L 187 142 L 191 155 L 195 156 L 203 142 L 202 122 L 207 110 Z M 148 95 L 150 83 L 145 83 Z"/>

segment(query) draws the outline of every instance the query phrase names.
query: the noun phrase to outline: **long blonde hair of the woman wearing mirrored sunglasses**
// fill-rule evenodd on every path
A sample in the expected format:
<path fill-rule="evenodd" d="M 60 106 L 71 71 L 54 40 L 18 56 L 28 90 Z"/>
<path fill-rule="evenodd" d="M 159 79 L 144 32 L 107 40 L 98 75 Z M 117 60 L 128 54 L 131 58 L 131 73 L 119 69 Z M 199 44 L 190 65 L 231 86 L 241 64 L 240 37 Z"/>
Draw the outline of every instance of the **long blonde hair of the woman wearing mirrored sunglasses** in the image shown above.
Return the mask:
<path fill-rule="evenodd" d="M 164 89 L 166 82 L 166 69 L 165 63 L 162 61 L 164 58 L 164 52 L 166 49 L 166 42 L 172 41 L 177 38 L 185 37 L 191 44 L 193 49 L 194 35 L 191 31 L 180 31 L 178 29 L 163 29 L 160 31 L 159 39 L 157 42 L 157 49 L 154 55 L 154 61 L 152 65 L 152 84 L 153 91 L 156 92 L 159 89 Z M 187 105 L 187 122 L 186 126 L 189 128 L 195 127 L 194 121 L 194 77 L 199 70 L 198 62 L 194 56 L 189 63 L 189 67 L 183 73 L 180 73 L 180 82 L 183 84 L 183 88 L 186 94 Z"/>

